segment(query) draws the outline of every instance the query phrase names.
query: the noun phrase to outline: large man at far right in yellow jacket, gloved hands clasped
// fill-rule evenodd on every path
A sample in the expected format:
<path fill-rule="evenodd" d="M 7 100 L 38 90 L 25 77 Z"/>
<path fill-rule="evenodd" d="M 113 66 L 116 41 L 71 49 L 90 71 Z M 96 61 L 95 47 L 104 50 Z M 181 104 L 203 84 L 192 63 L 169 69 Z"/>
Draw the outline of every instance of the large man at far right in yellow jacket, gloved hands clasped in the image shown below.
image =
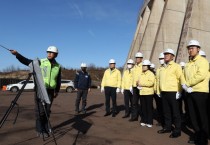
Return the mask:
<path fill-rule="evenodd" d="M 187 92 L 190 120 L 195 131 L 188 143 L 208 145 L 209 63 L 199 55 L 200 44 L 191 40 L 187 46 L 190 61 L 184 68 L 183 89 Z"/>

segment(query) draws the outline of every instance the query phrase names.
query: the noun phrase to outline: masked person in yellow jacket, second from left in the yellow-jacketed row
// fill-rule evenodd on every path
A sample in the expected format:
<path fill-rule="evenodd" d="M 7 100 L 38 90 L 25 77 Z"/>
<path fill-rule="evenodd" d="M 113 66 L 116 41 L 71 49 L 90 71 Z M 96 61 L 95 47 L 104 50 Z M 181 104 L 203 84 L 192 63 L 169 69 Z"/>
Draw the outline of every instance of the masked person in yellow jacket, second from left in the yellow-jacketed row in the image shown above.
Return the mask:
<path fill-rule="evenodd" d="M 134 61 L 132 59 L 129 59 L 127 61 L 127 69 L 125 70 L 122 77 L 121 93 L 124 94 L 124 103 L 125 103 L 125 115 L 122 118 L 128 118 L 131 113 L 130 106 L 131 106 L 131 109 L 133 108 L 133 102 L 132 102 L 133 100 L 133 87 L 132 87 L 133 65 L 134 65 Z"/>

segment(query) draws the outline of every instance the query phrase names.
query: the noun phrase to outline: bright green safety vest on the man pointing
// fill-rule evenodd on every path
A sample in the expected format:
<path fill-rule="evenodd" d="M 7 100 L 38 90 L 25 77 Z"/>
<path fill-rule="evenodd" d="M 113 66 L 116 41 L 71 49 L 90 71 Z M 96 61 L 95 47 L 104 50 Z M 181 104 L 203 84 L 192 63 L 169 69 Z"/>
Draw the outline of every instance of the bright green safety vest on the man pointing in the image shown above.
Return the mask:
<path fill-rule="evenodd" d="M 45 58 L 41 59 L 41 71 L 44 79 L 44 84 L 47 89 L 55 89 L 57 86 L 57 77 L 60 70 L 58 63 L 51 65 L 50 61 Z"/>

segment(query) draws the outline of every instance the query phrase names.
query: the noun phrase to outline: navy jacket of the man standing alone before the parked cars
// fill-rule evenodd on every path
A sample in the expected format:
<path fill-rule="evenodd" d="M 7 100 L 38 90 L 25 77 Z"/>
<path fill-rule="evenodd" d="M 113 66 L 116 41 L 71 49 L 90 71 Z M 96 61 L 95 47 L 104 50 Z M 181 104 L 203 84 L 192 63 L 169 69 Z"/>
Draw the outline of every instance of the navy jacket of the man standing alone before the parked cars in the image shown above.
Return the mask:
<path fill-rule="evenodd" d="M 91 77 L 88 72 L 79 71 L 74 79 L 76 89 L 87 90 L 91 87 Z"/>

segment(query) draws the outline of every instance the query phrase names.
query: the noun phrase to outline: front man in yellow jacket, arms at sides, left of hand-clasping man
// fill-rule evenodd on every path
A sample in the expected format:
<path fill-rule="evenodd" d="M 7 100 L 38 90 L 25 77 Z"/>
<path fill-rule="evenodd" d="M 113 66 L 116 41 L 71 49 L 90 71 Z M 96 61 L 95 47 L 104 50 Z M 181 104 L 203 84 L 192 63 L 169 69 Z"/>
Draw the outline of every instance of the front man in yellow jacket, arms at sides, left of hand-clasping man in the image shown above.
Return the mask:
<path fill-rule="evenodd" d="M 162 97 L 164 127 L 158 133 L 170 133 L 172 131 L 172 121 L 175 129 L 172 131 L 170 138 L 181 136 L 181 116 L 179 111 L 179 102 L 181 92 L 181 66 L 175 63 L 175 53 L 172 49 L 164 51 L 164 67 L 160 69 L 160 91 Z M 172 118 L 173 116 L 173 118 Z"/>

